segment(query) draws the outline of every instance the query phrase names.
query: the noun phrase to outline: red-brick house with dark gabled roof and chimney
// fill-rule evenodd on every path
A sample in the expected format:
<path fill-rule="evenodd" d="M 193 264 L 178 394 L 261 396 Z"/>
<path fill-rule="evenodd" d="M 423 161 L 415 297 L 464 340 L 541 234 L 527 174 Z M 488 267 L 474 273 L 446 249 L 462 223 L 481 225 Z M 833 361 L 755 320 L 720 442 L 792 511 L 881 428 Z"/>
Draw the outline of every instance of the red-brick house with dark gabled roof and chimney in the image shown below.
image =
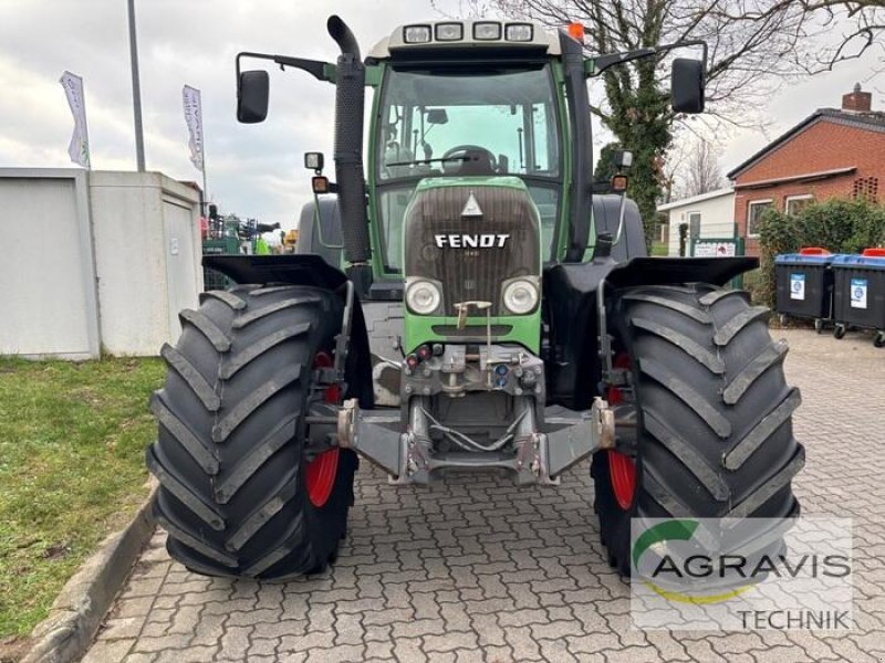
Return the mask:
<path fill-rule="evenodd" d="M 728 173 L 735 222 L 748 255 L 769 208 L 794 213 L 811 201 L 864 197 L 885 202 L 885 113 L 860 84 L 841 108 L 819 108 Z"/>

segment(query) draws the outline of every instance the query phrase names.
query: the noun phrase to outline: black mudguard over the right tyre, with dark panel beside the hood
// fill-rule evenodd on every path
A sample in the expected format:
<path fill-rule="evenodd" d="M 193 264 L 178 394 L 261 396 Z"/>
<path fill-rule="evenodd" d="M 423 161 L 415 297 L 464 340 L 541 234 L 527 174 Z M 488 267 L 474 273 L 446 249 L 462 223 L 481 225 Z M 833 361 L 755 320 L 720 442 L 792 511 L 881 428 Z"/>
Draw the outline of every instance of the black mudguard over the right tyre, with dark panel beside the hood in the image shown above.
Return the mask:
<path fill-rule="evenodd" d="M 544 318 L 549 325 L 548 400 L 571 409 L 590 408 L 602 376 L 596 291 L 637 285 L 711 283 L 725 285 L 759 266 L 756 257 L 633 257 L 563 263 L 544 271 Z"/>

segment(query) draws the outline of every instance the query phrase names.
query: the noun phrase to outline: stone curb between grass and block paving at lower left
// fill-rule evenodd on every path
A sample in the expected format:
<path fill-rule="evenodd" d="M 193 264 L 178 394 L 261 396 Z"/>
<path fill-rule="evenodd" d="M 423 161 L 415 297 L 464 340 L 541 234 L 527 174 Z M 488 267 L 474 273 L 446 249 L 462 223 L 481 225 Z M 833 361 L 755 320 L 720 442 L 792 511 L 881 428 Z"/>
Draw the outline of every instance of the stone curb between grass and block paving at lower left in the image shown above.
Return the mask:
<path fill-rule="evenodd" d="M 49 617 L 34 627 L 34 640 L 20 663 L 72 663 L 85 655 L 132 567 L 154 532 L 150 509 L 157 485 L 133 519 L 102 541 L 98 550 L 62 588 Z"/>

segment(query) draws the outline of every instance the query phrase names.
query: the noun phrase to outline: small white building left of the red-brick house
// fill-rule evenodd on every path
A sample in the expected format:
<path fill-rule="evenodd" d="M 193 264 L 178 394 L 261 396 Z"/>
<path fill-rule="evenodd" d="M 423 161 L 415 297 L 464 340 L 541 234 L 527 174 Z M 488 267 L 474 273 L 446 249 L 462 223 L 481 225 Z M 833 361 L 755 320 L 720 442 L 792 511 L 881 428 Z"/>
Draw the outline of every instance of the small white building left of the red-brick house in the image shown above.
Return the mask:
<path fill-rule="evenodd" d="M 667 255 L 679 255 L 679 224 L 688 224 L 686 254 L 691 239 L 725 239 L 735 236 L 735 189 L 717 189 L 700 196 L 658 206 L 658 212 L 669 217 Z"/>

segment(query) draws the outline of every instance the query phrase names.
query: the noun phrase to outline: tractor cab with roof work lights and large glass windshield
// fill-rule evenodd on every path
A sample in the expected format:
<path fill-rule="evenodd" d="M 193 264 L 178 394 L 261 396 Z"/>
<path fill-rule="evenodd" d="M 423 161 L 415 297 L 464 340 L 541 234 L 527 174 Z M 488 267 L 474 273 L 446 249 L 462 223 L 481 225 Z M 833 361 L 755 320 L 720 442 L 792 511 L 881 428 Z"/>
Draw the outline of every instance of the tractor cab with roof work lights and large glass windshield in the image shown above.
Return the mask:
<path fill-rule="evenodd" d="M 426 178 L 518 178 L 538 212 L 541 257 L 555 259 L 565 181 L 560 54 L 539 25 L 507 21 L 403 25 L 372 49 L 367 62 L 381 71 L 368 179 L 386 275 L 403 273 L 403 222 Z"/>

